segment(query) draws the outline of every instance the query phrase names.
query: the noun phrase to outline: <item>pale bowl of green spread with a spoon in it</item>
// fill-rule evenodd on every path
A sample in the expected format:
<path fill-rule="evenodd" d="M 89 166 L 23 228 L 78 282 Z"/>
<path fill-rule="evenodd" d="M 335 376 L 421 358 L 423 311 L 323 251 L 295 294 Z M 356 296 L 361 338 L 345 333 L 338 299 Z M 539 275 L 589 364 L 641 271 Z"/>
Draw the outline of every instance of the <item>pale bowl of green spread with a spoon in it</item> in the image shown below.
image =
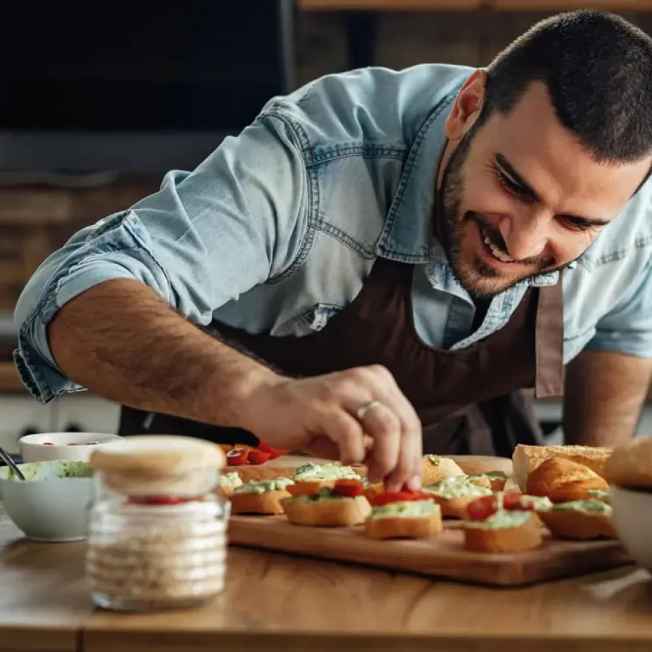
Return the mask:
<path fill-rule="evenodd" d="M 8 479 L 11 469 L 0 468 L 3 507 L 28 539 L 69 542 L 86 538 L 93 479 L 59 476 L 73 465 L 73 461 L 19 464 L 25 481 Z"/>

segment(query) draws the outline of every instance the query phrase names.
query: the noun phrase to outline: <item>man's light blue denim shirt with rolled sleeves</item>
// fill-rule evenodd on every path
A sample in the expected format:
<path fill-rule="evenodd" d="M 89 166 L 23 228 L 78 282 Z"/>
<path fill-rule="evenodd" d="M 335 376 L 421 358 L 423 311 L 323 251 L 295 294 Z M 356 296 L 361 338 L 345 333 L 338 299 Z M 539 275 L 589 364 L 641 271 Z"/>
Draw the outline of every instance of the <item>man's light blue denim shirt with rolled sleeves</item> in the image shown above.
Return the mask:
<path fill-rule="evenodd" d="M 502 327 L 529 285 L 474 305 L 431 240 L 444 121 L 473 69 L 421 65 L 328 75 L 275 97 L 194 172 L 77 233 L 38 268 L 16 307 L 14 360 L 40 401 L 82 389 L 57 368 L 46 326 L 109 279 L 139 279 L 189 321 L 309 335 L 351 303 L 377 256 L 416 265 L 414 316 L 434 347 Z M 585 347 L 652 355 L 652 183 L 563 272 L 564 357 Z"/>

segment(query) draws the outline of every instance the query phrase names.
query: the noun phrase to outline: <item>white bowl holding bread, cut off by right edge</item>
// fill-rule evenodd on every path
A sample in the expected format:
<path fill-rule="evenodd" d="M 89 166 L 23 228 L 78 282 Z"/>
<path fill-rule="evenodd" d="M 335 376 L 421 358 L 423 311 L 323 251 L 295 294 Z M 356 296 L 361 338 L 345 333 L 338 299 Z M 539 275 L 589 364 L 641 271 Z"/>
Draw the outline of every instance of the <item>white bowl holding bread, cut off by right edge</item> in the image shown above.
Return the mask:
<path fill-rule="evenodd" d="M 614 527 L 629 556 L 652 571 L 652 491 L 609 487 Z"/>

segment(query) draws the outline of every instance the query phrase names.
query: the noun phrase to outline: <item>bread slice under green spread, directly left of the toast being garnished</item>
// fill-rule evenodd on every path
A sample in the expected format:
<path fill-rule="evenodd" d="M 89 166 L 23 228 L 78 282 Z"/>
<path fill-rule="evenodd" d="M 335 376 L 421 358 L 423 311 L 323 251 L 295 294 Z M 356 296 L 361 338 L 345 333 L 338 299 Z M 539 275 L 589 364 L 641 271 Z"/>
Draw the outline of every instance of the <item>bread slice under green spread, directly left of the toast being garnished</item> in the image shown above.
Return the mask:
<path fill-rule="evenodd" d="M 364 523 L 371 514 L 371 505 L 364 496 L 332 500 L 301 500 L 286 498 L 283 511 L 296 525 L 347 527 Z"/>

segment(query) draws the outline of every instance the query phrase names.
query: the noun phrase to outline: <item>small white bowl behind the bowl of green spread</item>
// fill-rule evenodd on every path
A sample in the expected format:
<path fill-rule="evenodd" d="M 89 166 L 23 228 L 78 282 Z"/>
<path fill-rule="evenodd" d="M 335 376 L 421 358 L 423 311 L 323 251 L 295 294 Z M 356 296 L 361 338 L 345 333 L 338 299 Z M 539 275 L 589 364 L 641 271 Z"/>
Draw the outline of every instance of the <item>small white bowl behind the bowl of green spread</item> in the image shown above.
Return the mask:
<path fill-rule="evenodd" d="M 122 437 L 100 432 L 40 432 L 27 434 L 19 441 L 23 462 L 49 460 L 88 461 L 97 443 L 107 443 Z"/>

